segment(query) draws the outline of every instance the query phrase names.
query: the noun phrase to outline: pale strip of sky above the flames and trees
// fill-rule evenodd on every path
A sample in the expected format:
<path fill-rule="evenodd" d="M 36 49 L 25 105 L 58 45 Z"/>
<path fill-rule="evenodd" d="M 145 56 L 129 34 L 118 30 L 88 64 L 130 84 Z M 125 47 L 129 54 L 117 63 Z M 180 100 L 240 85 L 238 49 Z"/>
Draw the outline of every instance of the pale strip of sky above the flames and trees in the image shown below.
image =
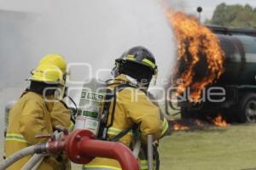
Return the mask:
<path fill-rule="evenodd" d="M 249 4 L 256 8 L 256 0 L 167 0 L 173 8 L 182 9 L 189 14 L 196 14 L 196 8 L 201 6 L 203 12 L 201 20 L 211 19 L 214 9 L 219 3 L 226 4 Z"/>

